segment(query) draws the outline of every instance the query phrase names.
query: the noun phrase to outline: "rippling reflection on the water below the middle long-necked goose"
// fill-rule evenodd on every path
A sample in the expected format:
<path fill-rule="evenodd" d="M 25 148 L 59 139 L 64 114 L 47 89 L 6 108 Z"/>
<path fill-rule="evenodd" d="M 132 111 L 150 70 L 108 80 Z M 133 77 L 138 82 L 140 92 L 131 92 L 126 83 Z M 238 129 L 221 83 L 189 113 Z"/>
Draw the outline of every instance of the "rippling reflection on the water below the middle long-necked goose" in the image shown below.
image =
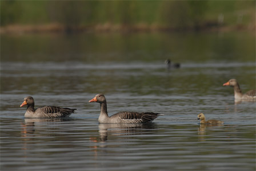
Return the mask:
<path fill-rule="evenodd" d="M 99 138 L 101 142 L 107 141 L 107 137 L 122 136 L 122 139 L 130 139 L 131 135 L 143 135 L 155 129 L 154 123 L 144 124 L 99 124 Z"/>

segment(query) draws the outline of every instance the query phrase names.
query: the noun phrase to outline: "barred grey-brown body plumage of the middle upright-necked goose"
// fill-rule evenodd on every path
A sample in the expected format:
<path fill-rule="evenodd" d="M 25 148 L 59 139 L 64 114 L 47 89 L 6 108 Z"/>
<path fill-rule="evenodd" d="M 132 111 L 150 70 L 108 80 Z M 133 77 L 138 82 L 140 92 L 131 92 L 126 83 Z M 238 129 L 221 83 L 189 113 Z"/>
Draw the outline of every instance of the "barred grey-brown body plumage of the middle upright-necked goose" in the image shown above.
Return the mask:
<path fill-rule="evenodd" d="M 156 119 L 161 114 L 153 112 L 118 112 L 110 118 L 115 120 L 116 123 L 149 123 Z"/>

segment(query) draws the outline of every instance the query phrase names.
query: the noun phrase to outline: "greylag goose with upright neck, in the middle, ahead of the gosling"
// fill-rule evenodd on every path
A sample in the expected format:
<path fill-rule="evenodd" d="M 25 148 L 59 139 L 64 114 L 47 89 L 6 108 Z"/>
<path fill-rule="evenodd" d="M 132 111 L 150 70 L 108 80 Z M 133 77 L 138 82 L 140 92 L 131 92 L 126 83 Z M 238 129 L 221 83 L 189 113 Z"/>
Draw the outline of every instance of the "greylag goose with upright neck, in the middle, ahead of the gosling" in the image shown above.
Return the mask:
<path fill-rule="evenodd" d="M 150 123 L 162 114 L 153 112 L 118 112 L 114 115 L 107 115 L 107 101 L 103 94 L 96 95 L 89 101 L 98 102 L 101 105 L 101 114 L 99 115 L 99 123 L 102 124 L 137 124 L 137 123 Z"/>

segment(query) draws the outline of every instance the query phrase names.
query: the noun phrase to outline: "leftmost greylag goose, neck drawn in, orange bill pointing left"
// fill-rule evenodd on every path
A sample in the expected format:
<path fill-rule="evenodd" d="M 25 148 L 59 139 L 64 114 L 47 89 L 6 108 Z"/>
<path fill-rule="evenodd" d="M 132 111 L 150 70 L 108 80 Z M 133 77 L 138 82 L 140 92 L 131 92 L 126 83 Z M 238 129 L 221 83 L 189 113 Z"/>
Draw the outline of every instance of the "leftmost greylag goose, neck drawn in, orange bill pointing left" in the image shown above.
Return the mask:
<path fill-rule="evenodd" d="M 34 108 L 35 102 L 33 97 L 27 96 L 24 98 L 23 103 L 20 107 L 27 105 L 27 110 L 25 113 L 25 117 L 30 118 L 49 118 L 49 117 L 68 117 L 71 113 L 74 113 L 76 109 L 70 108 L 61 108 L 55 106 L 45 106 L 39 107 L 37 109 Z"/>

